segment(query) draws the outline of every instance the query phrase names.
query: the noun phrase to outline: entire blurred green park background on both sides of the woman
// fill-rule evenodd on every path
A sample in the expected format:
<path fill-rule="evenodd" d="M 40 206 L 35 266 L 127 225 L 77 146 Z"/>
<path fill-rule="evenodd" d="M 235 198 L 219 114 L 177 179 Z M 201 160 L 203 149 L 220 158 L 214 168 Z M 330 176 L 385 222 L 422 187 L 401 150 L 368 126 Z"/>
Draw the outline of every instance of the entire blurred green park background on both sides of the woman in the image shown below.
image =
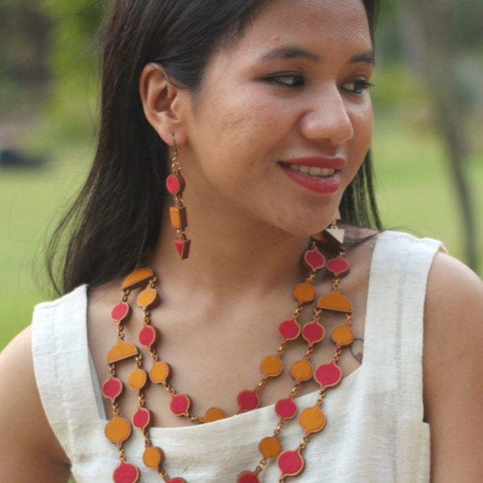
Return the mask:
<path fill-rule="evenodd" d="M 52 297 L 43 246 L 95 148 L 104 6 L 0 3 L 0 348 Z M 480 0 L 382 0 L 373 90 L 385 226 L 442 239 L 480 275 L 482 20 Z"/>

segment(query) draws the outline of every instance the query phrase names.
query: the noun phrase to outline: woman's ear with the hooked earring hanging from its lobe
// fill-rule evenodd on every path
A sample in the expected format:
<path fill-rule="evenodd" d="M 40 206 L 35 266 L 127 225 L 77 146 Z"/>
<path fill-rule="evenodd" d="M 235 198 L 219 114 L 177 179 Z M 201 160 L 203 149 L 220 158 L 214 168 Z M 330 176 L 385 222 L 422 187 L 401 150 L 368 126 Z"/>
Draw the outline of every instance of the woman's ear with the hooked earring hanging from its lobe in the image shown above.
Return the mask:
<path fill-rule="evenodd" d="M 143 103 L 144 115 L 161 139 L 174 146 L 186 143 L 186 131 L 179 118 L 180 97 L 186 94 L 177 88 L 161 66 L 148 63 L 141 72 L 139 94 Z"/>

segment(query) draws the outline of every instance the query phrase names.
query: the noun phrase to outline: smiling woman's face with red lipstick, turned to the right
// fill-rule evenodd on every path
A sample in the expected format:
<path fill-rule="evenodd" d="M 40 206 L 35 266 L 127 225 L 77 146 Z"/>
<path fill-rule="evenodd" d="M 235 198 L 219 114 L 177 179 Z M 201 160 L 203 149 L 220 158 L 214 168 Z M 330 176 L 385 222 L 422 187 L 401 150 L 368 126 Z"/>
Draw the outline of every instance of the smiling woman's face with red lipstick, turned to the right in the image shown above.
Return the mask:
<path fill-rule="evenodd" d="M 362 0 L 267 2 L 184 91 L 186 205 L 293 235 L 325 228 L 371 142 L 372 72 Z"/>

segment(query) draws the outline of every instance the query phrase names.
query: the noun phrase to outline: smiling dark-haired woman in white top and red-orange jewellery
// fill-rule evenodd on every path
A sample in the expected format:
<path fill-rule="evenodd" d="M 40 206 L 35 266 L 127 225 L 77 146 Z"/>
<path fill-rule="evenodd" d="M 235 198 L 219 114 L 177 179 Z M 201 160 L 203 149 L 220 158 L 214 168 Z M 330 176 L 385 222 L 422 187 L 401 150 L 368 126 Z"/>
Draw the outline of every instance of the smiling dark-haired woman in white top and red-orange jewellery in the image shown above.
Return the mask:
<path fill-rule="evenodd" d="M 482 283 L 360 228 L 375 11 L 115 3 L 70 293 L 0 358 L 2 481 L 482 480 Z"/>

